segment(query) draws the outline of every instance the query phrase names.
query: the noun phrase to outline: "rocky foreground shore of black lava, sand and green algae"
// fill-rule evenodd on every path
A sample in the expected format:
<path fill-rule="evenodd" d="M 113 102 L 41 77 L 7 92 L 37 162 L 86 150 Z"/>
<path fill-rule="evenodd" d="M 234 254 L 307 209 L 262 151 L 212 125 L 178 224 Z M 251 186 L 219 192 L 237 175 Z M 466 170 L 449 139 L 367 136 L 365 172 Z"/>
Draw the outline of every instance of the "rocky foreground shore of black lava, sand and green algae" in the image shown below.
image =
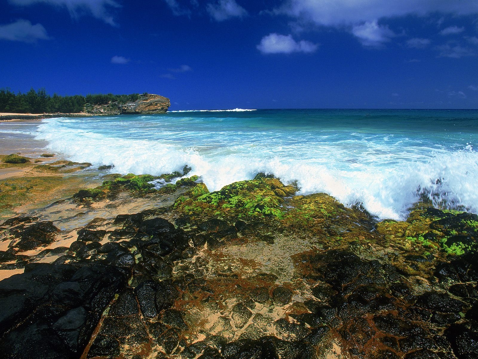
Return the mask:
<path fill-rule="evenodd" d="M 0 357 L 478 357 L 476 214 L 378 222 L 264 174 L 187 175 L 105 173 L 3 221 L 0 270 L 24 273 L 0 281 Z"/>

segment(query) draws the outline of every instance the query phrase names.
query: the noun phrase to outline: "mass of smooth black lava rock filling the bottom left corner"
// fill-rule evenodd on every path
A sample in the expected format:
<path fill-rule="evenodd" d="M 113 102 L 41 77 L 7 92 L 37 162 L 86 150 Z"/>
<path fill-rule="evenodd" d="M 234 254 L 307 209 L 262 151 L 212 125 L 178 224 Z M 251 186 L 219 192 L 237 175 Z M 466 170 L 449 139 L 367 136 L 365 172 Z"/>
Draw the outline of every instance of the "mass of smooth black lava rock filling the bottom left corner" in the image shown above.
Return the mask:
<path fill-rule="evenodd" d="M 2 280 L 2 358 L 79 358 L 101 314 L 125 283 L 118 269 L 94 263 L 34 263 Z"/>

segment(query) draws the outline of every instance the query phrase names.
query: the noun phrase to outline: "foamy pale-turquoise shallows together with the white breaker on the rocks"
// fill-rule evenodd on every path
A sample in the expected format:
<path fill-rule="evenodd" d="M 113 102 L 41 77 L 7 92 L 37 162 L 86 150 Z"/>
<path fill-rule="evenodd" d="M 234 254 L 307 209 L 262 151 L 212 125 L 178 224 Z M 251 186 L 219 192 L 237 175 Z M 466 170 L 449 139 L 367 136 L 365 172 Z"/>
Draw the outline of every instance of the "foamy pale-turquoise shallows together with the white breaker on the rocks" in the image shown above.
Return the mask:
<path fill-rule="evenodd" d="M 73 161 L 114 165 L 112 171 L 122 174 L 160 175 L 187 164 L 189 175 L 201 176 L 210 191 L 265 172 L 296 183 L 300 194 L 326 192 L 379 218 L 404 219 L 424 197 L 436 206 L 478 212 L 472 146 L 370 131 L 270 131 L 256 122 L 246 128 L 241 119 L 223 120 L 48 119 L 36 139 Z"/>

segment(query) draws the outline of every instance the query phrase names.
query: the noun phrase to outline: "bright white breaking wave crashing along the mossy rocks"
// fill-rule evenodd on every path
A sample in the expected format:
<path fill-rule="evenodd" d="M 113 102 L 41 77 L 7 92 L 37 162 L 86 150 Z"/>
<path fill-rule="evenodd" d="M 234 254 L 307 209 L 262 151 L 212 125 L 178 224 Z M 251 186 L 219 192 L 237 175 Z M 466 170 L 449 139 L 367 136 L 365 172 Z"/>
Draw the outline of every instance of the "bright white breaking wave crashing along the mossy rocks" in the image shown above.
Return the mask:
<path fill-rule="evenodd" d="M 402 150 L 405 139 L 369 140 L 367 151 L 357 150 L 363 140 L 344 139 L 339 143 L 314 141 L 272 147 L 245 137 L 224 146 L 189 146 L 171 140 L 119 138 L 117 134 L 98 133 L 88 125 L 45 120 L 36 139 L 48 141 L 47 148 L 76 162 L 114 165 L 114 171 L 161 175 L 192 168 L 210 191 L 235 181 L 252 179 L 258 172 L 270 173 L 284 183 L 296 183 L 299 194 L 325 192 L 344 205 L 361 204 L 379 218 L 404 219 L 413 203 L 423 197 L 435 206 L 478 212 L 478 153 L 466 146 L 461 150 L 415 146 Z M 101 126 L 106 126 L 102 123 Z M 97 129 L 98 130 L 98 129 Z M 199 135 L 199 133 L 198 133 Z M 203 136 L 206 136 L 203 134 Z M 226 134 L 219 135 L 226 138 Z M 169 134 L 165 138 L 172 138 Z M 279 139 L 274 137 L 274 141 Z M 292 140 L 291 140 L 292 141 Z M 318 147 L 319 146 L 319 147 Z M 360 156 L 351 156 L 355 151 Z M 402 152 L 400 152 L 402 151 Z"/>

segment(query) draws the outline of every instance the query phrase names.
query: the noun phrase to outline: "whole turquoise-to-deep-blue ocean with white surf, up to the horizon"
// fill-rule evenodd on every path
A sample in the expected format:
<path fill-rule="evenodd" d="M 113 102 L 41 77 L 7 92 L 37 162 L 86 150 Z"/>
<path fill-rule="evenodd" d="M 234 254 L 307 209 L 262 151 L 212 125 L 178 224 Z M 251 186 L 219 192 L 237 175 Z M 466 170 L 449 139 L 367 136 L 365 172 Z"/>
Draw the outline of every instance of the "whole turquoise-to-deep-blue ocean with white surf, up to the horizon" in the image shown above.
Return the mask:
<path fill-rule="evenodd" d="M 115 173 L 188 165 L 210 191 L 265 172 L 380 219 L 406 218 L 423 197 L 478 213 L 478 111 L 178 111 L 5 128 L 2 138 L 28 135 L 44 151 Z"/>

